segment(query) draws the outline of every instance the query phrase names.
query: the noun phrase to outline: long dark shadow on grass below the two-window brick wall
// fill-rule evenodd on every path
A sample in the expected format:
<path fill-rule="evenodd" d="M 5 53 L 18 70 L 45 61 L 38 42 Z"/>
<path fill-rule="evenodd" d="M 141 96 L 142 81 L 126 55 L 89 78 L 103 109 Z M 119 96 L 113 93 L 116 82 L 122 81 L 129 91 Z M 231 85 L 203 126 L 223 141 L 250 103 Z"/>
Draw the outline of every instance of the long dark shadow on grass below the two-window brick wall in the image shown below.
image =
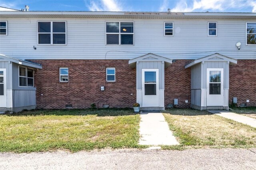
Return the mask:
<path fill-rule="evenodd" d="M 136 115 L 131 108 L 107 108 L 107 109 L 34 109 L 24 110 L 18 113 L 5 114 L 8 116 L 28 116 L 28 115 L 97 115 L 97 116 L 122 116 Z"/>

